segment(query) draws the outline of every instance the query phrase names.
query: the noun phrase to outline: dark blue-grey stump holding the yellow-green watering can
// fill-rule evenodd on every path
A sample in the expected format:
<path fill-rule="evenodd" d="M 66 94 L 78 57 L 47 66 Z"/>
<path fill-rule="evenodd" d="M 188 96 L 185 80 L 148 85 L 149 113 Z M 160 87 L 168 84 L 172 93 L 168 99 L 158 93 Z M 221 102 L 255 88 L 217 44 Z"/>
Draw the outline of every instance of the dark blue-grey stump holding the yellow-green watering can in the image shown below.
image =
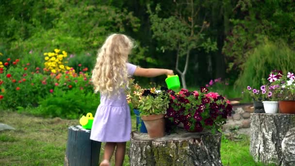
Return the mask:
<path fill-rule="evenodd" d="M 98 166 L 100 145 L 90 139 L 90 130 L 70 126 L 64 166 Z"/>

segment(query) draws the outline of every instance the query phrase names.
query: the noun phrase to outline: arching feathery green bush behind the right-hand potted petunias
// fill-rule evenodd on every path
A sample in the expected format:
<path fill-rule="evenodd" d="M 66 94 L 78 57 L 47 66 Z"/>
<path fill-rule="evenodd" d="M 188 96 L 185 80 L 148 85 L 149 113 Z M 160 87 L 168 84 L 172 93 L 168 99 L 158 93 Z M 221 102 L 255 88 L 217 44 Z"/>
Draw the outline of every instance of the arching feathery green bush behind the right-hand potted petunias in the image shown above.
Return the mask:
<path fill-rule="evenodd" d="M 294 62 L 295 52 L 287 44 L 266 40 L 251 53 L 235 86 L 240 89 L 247 86 L 260 87 L 261 80 L 268 78 L 274 69 L 282 70 L 284 74 L 295 70 Z"/>

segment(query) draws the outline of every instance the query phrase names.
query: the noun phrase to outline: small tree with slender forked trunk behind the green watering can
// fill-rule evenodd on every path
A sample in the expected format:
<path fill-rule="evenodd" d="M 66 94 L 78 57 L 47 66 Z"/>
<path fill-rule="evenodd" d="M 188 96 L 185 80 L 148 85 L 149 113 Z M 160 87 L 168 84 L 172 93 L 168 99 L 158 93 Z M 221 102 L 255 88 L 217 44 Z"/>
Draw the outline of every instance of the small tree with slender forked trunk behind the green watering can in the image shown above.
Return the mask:
<path fill-rule="evenodd" d="M 168 18 L 159 17 L 161 7 L 158 4 L 153 13 L 148 6 L 153 38 L 161 42 L 161 50 L 176 51 L 176 71 L 181 76 L 183 88 L 187 88 L 185 74 L 188 69 L 190 54 L 195 49 L 205 49 L 206 52 L 217 50 L 216 42 L 206 37 L 203 31 L 210 26 L 206 15 L 199 19 L 201 8 L 199 0 L 175 1 L 175 11 Z M 180 58 L 185 56 L 184 69 L 180 71 Z"/>

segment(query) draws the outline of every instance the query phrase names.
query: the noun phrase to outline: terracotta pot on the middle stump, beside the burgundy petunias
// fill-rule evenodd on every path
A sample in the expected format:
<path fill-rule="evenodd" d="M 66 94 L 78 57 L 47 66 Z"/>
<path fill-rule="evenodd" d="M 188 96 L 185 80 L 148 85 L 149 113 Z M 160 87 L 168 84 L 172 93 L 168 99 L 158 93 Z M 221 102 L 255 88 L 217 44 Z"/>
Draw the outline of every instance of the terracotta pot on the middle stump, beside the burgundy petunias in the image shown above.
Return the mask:
<path fill-rule="evenodd" d="M 148 130 L 150 138 L 161 138 L 165 135 L 164 115 L 141 116 Z"/>

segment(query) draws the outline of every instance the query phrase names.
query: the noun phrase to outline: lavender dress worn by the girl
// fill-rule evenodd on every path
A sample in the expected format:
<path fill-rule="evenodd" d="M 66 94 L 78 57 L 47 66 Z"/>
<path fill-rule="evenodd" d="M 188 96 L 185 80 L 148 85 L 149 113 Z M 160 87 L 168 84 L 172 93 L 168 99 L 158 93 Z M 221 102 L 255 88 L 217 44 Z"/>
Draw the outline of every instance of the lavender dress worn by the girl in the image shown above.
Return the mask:
<path fill-rule="evenodd" d="M 128 75 L 136 66 L 127 63 Z M 100 104 L 94 116 L 90 139 L 99 142 L 126 142 L 130 140 L 131 116 L 124 90 L 118 96 L 107 99 L 100 95 Z"/>

